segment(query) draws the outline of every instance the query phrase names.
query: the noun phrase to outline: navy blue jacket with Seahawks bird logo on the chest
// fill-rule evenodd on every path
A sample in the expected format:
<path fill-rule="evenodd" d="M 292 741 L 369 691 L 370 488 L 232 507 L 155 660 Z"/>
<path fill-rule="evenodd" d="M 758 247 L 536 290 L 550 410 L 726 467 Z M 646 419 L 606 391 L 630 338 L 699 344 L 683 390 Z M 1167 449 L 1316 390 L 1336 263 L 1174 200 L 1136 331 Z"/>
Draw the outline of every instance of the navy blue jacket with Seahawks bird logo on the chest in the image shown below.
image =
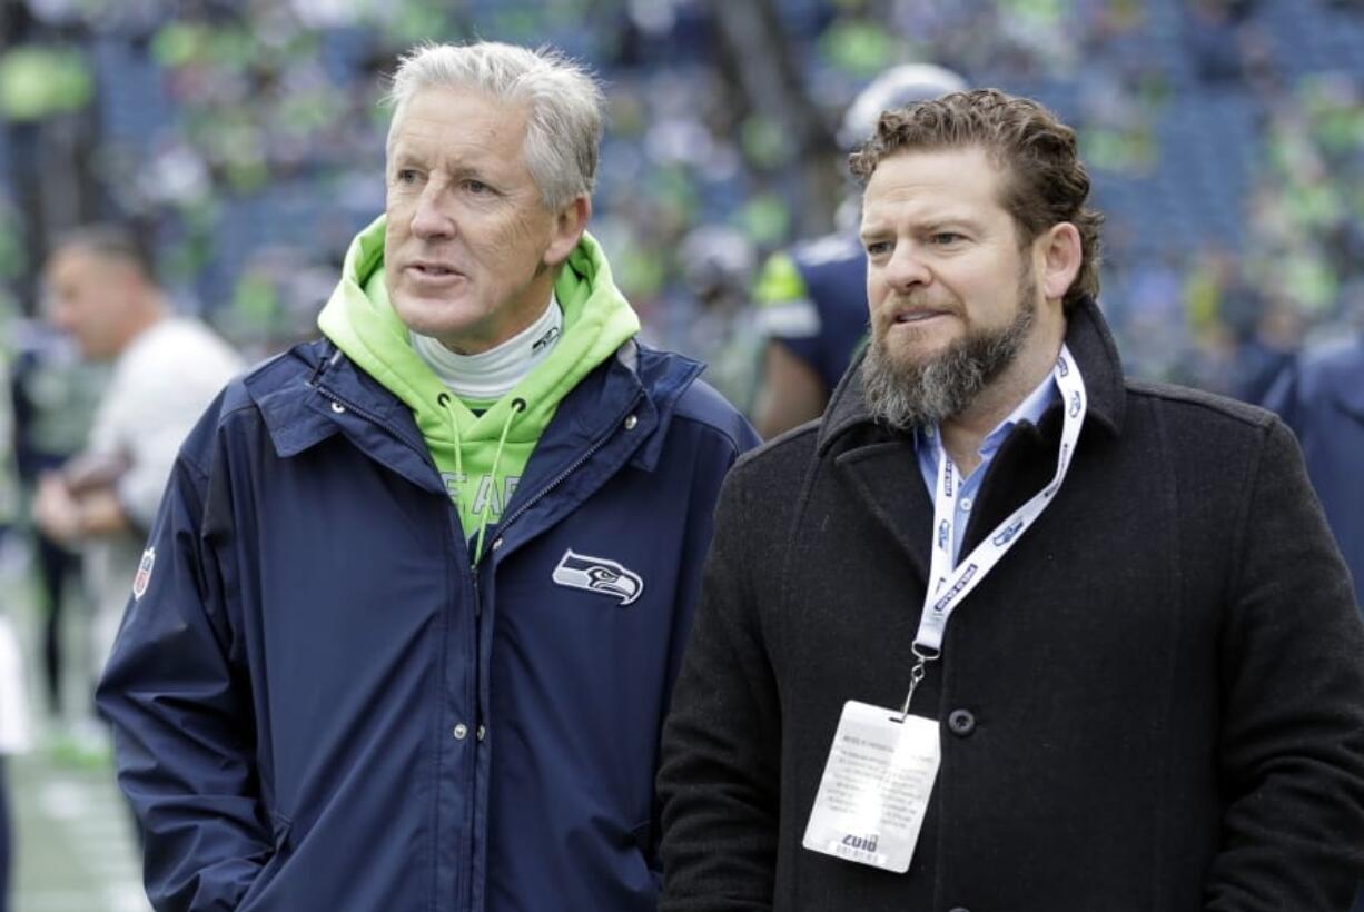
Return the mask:
<path fill-rule="evenodd" d="M 757 442 L 700 369 L 593 371 L 472 570 L 411 413 L 344 354 L 233 382 L 98 694 L 155 908 L 655 909 L 663 714 Z"/>

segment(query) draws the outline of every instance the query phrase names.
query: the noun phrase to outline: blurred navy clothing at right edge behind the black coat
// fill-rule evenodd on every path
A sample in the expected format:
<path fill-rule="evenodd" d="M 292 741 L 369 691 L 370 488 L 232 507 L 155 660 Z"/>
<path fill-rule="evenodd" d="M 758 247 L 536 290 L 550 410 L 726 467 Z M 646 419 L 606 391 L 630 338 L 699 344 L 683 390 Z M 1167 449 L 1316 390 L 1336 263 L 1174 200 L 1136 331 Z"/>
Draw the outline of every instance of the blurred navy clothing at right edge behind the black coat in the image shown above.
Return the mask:
<path fill-rule="evenodd" d="M 1354 590 L 1364 590 L 1364 339 L 1304 353 L 1264 405 L 1303 444 L 1307 474 L 1354 575 Z"/>

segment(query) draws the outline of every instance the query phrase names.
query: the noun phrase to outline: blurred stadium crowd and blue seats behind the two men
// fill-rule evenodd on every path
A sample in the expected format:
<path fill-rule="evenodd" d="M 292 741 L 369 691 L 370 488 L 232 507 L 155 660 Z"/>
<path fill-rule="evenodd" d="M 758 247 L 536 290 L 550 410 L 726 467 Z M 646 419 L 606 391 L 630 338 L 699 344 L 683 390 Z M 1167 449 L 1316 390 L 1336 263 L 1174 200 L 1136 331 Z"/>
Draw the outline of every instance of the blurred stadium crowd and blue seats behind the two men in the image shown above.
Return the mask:
<path fill-rule="evenodd" d="M 80 450 L 104 376 L 45 322 L 63 232 L 136 225 L 176 305 L 248 360 L 314 335 L 383 209 L 378 76 L 472 37 L 550 44 L 606 79 L 592 232 L 645 338 L 708 361 L 742 409 L 760 267 L 835 228 L 844 110 L 904 61 L 1078 125 L 1129 372 L 1259 402 L 1305 345 L 1364 331 L 1361 0 L 4 0 L 16 477 Z M 20 502 L 0 484 L 4 522 Z M 70 568 L 41 556 L 59 605 Z"/>

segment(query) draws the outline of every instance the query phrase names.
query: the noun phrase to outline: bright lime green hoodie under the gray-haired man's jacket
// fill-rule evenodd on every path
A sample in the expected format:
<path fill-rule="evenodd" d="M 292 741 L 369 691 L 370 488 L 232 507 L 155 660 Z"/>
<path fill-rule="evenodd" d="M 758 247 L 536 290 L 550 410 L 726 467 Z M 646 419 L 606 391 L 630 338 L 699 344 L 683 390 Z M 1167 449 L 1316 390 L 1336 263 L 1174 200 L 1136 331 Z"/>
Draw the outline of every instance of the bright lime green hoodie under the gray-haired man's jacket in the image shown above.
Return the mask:
<path fill-rule="evenodd" d="M 381 215 L 351 243 L 341 281 L 318 326 L 366 374 L 412 409 L 431 458 L 445 478 L 468 537 L 483 552 L 487 526 L 496 522 L 535 444 L 559 402 L 595 367 L 640 331 L 640 320 L 611 281 L 600 244 L 584 234 L 554 282 L 563 308 L 563 337 L 539 367 L 496 402 L 469 410 L 412 350 L 383 282 Z M 446 395 L 442 395 L 446 394 Z M 525 408 L 513 408 L 521 399 Z M 520 406 L 520 404 L 518 404 Z"/>

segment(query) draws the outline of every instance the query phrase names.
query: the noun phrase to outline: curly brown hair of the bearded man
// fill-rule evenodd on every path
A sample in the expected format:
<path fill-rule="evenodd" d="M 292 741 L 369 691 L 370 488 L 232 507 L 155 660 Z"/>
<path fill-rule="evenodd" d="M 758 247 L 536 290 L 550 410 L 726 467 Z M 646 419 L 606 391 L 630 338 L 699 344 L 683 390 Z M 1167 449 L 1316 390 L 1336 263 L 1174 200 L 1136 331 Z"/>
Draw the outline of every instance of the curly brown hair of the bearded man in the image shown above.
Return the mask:
<path fill-rule="evenodd" d="M 848 166 L 866 187 L 891 155 L 968 147 L 983 149 L 1004 173 L 1000 203 L 1018 225 L 1020 247 L 1058 222 L 1079 230 L 1080 271 L 1065 292 L 1065 308 L 1098 297 L 1103 214 L 1084 204 L 1090 174 L 1076 154 L 1075 131 L 1031 98 L 977 89 L 887 110 L 876 132 L 848 155 Z"/>

